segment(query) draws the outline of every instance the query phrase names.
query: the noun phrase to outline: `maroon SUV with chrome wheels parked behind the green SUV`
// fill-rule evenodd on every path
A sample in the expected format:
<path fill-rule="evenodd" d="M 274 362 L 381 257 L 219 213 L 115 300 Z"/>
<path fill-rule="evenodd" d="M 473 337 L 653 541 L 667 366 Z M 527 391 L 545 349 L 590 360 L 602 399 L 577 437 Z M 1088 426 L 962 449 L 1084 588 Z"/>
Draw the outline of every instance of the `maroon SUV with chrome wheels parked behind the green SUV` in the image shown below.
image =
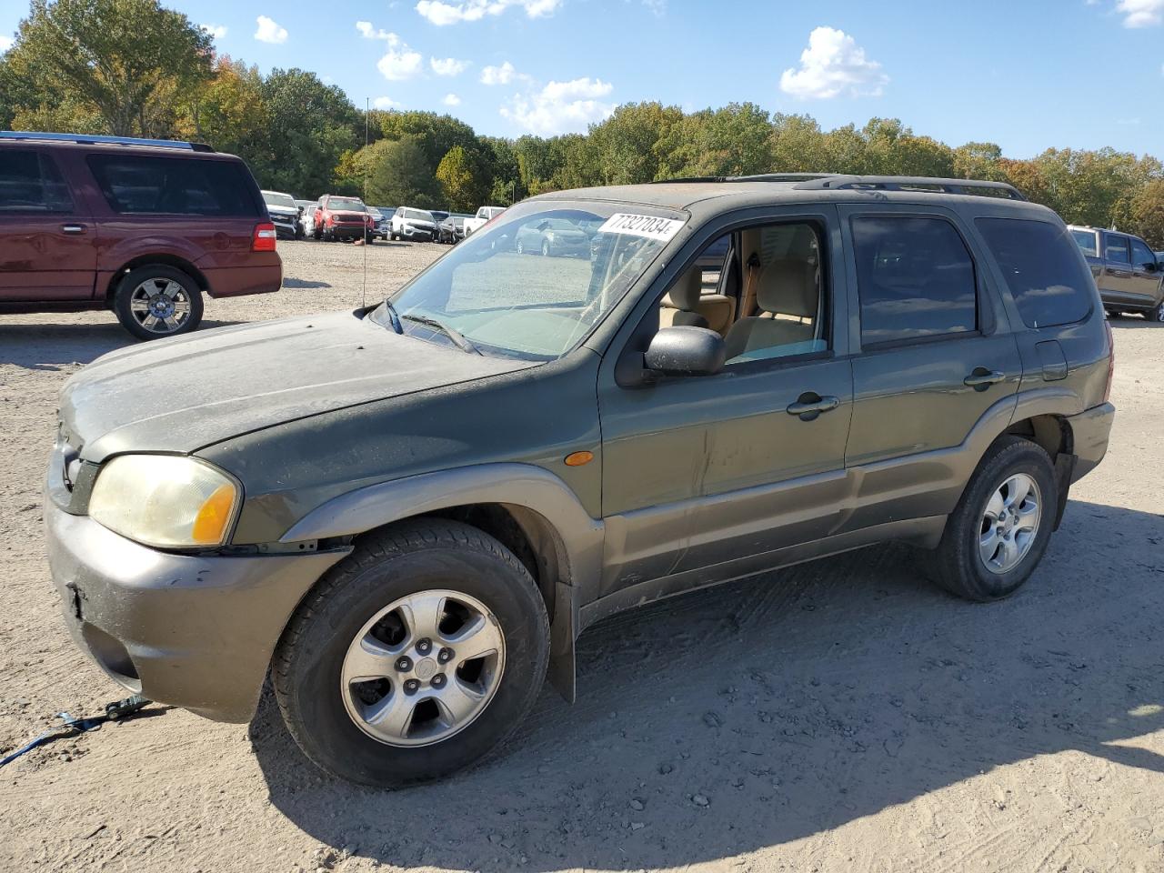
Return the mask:
<path fill-rule="evenodd" d="M 111 308 L 149 340 L 193 331 L 204 293 L 282 281 L 242 159 L 166 140 L 0 132 L 0 312 Z"/>

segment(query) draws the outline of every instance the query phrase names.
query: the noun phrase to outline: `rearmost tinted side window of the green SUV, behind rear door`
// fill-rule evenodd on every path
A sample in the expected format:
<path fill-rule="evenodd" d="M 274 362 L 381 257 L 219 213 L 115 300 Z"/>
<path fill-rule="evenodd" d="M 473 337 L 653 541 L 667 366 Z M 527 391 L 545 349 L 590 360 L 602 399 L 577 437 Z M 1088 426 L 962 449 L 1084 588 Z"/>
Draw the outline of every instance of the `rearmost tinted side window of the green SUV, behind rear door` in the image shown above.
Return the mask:
<path fill-rule="evenodd" d="M 975 219 L 1027 327 L 1070 325 L 1092 307 L 1091 271 L 1060 227 L 1027 219 Z"/>

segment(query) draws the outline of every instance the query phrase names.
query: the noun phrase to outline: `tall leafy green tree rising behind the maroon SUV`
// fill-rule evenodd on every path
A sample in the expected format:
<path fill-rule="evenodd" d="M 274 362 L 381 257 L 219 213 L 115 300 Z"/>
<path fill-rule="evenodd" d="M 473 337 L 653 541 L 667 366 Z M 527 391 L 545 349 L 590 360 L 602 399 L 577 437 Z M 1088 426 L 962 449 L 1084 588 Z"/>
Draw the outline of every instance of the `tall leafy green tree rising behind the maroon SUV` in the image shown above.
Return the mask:
<path fill-rule="evenodd" d="M 7 64 L 30 85 L 14 121 L 164 136 L 211 77 L 211 37 L 157 0 L 33 0 Z"/>

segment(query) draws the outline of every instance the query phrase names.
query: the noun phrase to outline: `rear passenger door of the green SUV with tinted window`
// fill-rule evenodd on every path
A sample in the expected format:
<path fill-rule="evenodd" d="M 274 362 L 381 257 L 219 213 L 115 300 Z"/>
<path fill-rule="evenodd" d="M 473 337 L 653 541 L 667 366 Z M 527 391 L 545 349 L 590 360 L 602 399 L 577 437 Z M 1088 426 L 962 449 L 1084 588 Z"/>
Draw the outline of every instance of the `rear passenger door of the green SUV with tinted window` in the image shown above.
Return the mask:
<path fill-rule="evenodd" d="M 952 211 L 843 206 L 859 471 L 844 530 L 944 514 L 964 473 L 957 448 L 984 417 L 1009 421 L 1022 363 L 982 253 Z"/>

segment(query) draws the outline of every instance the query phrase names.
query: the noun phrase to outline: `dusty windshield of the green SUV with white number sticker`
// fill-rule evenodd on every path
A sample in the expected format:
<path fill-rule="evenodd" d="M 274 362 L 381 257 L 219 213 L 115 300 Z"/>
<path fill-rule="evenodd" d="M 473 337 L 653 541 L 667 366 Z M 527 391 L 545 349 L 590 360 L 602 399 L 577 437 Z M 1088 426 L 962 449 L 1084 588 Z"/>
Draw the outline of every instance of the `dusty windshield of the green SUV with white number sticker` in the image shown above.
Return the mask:
<path fill-rule="evenodd" d="M 389 299 L 405 333 L 453 345 L 435 329 L 435 321 L 482 354 L 552 361 L 585 339 L 683 220 L 681 213 L 654 206 L 520 204 Z M 602 229 L 592 239 L 583 237 L 582 244 L 542 247 L 547 233 L 576 228 L 582 221 L 598 221 Z M 371 319 L 392 329 L 391 313 L 383 305 Z"/>

